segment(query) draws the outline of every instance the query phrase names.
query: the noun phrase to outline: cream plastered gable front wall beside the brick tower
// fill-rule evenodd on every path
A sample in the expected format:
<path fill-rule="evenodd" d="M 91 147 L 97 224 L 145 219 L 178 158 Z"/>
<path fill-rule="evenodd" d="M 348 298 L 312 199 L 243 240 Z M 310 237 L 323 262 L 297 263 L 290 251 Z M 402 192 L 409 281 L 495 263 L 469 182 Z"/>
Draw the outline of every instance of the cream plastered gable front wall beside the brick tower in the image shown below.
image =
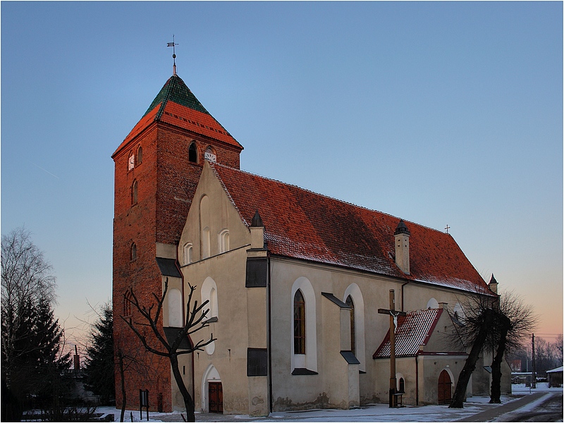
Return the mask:
<path fill-rule="evenodd" d="M 200 216 L 199 204 L 203 195 L 207 195 L 209 199 L 207 216 Z M 211 256 L 207 259 L 202 259 L 202 219 L 209 226 L 211 234 Z M 226 228 L 229 231 L 230 249 L 218 254 L 217 234 Z M 180 238 L 179 257 L 182 257 L 185 243 L 192 243 L 194 257 L 194 262 L 188 266 L 180 261 L 186 286 L 188 283 L 196 286 L 194 298 L 201 304 L 202 283 L 206 278 L 212 278 L 216 283 L 218 301 L 218 321 L 192 335 L 195 343 L 200 339 L 209 339 L 212 333 L 217 338 L 213 350 L 208 348 L 195 354 L 196 410 L 207 410 L 204 378 L 213 366 L 223 386 L 223 412 L 248 414 L 247 348 L 266 348 L 266 302 L 264 295 L 261 301 L 261 296 L 256 291 L 249 292 L 245 288 L 250 233 L 209 166 L 204 166 L 194 203 L 188 213 Z M 258 304 L 250 309 L 247 302 Z M 262 325 L 262 329 L 253 331 L 252 328 L 257 324 Z M 257 398 L 256 402 L 259 401 L 267 405 L 268 398 Z"/>

